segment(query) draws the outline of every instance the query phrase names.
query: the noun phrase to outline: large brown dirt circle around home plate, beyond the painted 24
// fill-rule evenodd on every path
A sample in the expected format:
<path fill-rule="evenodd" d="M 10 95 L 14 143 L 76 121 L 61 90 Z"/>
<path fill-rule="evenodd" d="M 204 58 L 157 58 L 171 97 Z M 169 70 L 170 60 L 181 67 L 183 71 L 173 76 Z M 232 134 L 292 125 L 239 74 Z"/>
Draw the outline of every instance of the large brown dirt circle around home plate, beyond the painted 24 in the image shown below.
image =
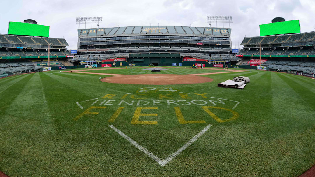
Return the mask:
<path fill-rule="evenodd" d="M 173 85 L 205 83 L 213 79 L 196 75 L 145 74 L 112 76 L 103 78 L 101 81 L 116 84 Z"/>

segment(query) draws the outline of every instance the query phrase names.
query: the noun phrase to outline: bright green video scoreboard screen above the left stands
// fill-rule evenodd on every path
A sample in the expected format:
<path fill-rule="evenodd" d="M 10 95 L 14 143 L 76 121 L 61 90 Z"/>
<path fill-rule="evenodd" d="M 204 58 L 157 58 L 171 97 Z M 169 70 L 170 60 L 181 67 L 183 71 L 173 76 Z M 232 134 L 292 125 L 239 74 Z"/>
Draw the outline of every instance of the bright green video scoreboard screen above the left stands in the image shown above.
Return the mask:
<path fill-rule="evenodd" d="M 8 34 L 49 37 L 49 26 L 10 21 Z"/>

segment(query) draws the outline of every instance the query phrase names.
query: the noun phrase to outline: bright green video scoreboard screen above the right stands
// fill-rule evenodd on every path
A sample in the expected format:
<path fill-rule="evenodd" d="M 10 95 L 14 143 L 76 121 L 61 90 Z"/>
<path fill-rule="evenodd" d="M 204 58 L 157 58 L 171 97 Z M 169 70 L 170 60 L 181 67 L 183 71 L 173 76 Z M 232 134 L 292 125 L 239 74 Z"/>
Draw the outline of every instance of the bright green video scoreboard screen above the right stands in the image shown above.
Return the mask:
<path fill-rule="evenodd" d="M 260 36 L 301 33 L 300 21 L 290 20 L 259 25 Z"/>

